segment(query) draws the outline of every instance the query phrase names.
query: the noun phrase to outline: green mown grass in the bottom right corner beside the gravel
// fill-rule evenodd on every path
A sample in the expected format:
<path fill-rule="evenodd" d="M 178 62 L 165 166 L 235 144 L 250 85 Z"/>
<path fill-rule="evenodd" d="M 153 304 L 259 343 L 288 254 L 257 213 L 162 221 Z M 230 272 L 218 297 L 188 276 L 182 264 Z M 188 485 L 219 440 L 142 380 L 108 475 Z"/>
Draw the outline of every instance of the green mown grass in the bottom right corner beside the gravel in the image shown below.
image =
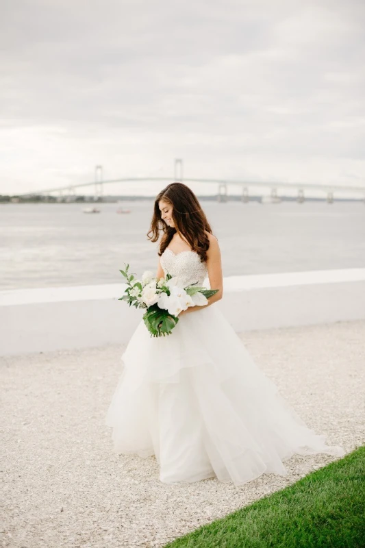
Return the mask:
<path fill-rule="evenodd" d="M 365 447 L 165 548 L 364 548 Z"/>

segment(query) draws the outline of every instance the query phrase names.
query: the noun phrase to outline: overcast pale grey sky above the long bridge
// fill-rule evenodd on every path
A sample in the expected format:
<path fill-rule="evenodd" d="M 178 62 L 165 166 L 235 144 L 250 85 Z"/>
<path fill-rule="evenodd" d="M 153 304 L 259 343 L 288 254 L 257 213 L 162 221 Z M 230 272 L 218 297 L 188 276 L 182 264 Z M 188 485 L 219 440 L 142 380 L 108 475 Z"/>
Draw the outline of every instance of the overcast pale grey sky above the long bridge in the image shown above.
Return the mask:
<path fill-rule="evenodd" d="M 0 194 L 97 164 L 172 182 L 175 158 L 191 178 L 365 186 L 364 28 L 362 0 L 3 0 Z"/>

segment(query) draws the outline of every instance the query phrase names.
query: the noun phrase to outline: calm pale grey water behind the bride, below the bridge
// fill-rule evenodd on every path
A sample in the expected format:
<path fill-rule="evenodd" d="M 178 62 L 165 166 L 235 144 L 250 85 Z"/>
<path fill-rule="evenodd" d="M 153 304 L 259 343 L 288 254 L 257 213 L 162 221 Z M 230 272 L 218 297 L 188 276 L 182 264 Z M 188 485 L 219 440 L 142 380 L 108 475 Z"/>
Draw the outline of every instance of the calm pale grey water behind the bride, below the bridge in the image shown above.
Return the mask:
<path fill-rule="evenodd" d="M 0 205 L 1 289 L 118 283 L 129 262 L 155 271 L 147 240 L 152 201 Z M 223 275 L 365 267 L 363 202 L 279 204 L 202 201 L 222 252 Z M 85 206 L 86 207 L 86 206 Z"/>

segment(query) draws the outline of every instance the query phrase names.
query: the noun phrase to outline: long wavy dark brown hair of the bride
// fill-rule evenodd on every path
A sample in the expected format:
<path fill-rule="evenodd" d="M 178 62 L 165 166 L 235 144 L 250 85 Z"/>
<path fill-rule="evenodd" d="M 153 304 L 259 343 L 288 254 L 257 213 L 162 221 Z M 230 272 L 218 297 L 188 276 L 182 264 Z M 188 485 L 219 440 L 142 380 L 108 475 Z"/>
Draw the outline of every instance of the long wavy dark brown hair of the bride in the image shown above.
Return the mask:
<path fill-rule="evenodd" d="M 175 227 L 169 227 L 163 221 L 158 207 L 160 200 L 171 203 L 173 206 Z M 207 260 L 207 250 L 209 249 L 209 238 L 205 231 L 213 234 L 199 200 L 188 186 L 183 183 L 171 183 L 161 190 L 155 199 L 151 227 L 147 233 L 147 238 L 151 242 L 157 242 L 160 232 L 162 232 L 159 256 L 162 256 L 173 235 L 177 232 L 185 238 L 192 251 L 198 253 L 201 261 L 205 262 Z"/>

